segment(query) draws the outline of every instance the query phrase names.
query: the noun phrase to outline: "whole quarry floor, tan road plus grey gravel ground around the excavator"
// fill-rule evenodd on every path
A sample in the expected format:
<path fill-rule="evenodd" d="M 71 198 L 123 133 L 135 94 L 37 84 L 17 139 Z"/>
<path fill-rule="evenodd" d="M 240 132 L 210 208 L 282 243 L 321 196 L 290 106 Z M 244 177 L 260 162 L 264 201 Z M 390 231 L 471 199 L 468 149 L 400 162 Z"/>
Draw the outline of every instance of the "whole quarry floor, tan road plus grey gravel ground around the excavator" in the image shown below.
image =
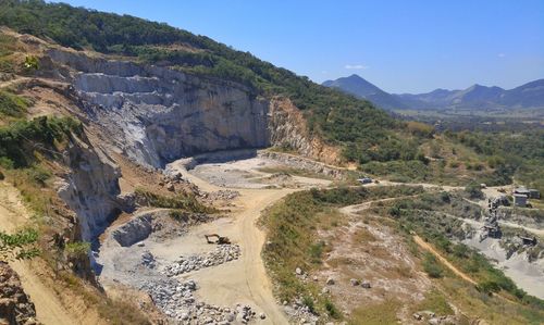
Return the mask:
<path fill-rule="evenodd" d="M 180 162 L 170 164 L 168 166 L 170 171 L 181 172 L 185 179 L 197 185 L 200 190 L 211 192 L 236 189 L 240 195 L 231 202 L 231 212 L 227 215 L 193 226 L 188 233 L 181 236 L 173 236 L 162 241 L 149 237 L 143 240 L 140 246 L 133 245 L 126 248 L 115 242 L 108 242 L 107 239 L 98 257 L 98 261 L 104 263 L 100 275 L 102 284 L 109 287 L 115 280 L 125 284 L 134 282 L 134 270 L 129 270 L 128 264 L 137 264 L 137 259 L 144 251 L 151 252 L 160 268 L 162 265 L 173 263 L 181 255 L 201 254 L 213 250 L 214 246 L 207 243 L 203 235 L 220 234 L 240 246 L 240 258 L 176 277 L 180 280 L 194 279 L 198 284 L 196 297 L 199 301 L 226 307 L 237 303 L 248 304 L 257 313 L 262 312 L 267 315 L 265 320 L 259 320 L 259 324 L 287 324 L 282 307 L 272 295 L 272 284 L 261 259 L 265 234 L 256 222 L 263 209 L 284 196 L 297 189 L 326 187 L 331 182 L 293 176 L 287 184 L 280 185 L 274 183 L 274 178 L 270 177 L 271 174 L 259 171 L 263 166 L 279 165 L 276 162 L 254 158 L 197 165 L 187 172 Z M 112 225 L 115 226 L 119 224 Z"/>

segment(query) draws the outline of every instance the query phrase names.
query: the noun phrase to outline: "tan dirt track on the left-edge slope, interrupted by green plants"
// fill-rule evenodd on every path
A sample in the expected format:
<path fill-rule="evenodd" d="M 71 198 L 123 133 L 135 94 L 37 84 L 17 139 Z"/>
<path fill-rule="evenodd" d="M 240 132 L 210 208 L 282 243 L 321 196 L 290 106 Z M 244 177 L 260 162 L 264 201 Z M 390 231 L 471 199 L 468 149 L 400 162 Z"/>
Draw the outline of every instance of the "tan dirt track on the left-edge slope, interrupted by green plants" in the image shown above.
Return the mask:
<path fill-rule="evenodd" d="M 0 230 L 13 233 L 27 225 L 32 213 L 22 202 L 18 190 L 5 182 L 0 182 Z M 96 315 L 86 312 L 85 305 L 71 300 L 74 309 L 69 310 L 62 303 L 52 287 L 44 282 L 37 267 L 39 261 L 10 262 L 10 266 L 21 277 L 23 289 L 36 307 L 37 320 L 45 325 L 98 324 Z M 83 312 L 82 312 L 83 311 Z"/>

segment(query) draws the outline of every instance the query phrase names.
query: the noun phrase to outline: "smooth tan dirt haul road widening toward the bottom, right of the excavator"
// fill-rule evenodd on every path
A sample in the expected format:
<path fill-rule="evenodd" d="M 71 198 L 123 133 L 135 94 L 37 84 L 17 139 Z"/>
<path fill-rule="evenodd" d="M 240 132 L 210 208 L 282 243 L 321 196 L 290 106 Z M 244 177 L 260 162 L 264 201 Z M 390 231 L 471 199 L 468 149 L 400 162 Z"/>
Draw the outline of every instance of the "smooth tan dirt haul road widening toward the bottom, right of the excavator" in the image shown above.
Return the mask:
<path fill-rule="evenodd" d="M 267 316 L 259 324 L 288 324 L 272 293 L 272 283 L 261 258 L 265 233 L 258 227 L 257 221 L 267 207 L 299 189 L 219 187 L 186 171 L 183 174 L 202 190 L 232 189 L 240 193 L 235 201 L 238 209 L 233 213 L 232 223 L 220 226 L 207 224 L 199 228 L 199 235 L 208 232 L 234 237 L 243 251 L 240 263 L 209 267 L 191 276 L 199 284 L 198 295 L 208 303 L 219 305 L 255 304 L 257 310 L 261 310 Z"/>

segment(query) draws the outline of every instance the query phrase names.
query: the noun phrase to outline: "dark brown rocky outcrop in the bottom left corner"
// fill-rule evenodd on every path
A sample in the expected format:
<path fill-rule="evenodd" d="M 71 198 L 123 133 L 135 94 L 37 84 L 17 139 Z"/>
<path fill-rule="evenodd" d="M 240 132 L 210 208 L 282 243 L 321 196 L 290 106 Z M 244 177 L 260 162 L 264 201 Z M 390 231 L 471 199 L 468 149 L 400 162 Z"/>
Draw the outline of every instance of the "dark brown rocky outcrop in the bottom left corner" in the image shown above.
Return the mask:
<path fill-rule="evenodd" d="M 0 324 L 39 324 L 18 275 L 4 262 L 0 262 Z"/>

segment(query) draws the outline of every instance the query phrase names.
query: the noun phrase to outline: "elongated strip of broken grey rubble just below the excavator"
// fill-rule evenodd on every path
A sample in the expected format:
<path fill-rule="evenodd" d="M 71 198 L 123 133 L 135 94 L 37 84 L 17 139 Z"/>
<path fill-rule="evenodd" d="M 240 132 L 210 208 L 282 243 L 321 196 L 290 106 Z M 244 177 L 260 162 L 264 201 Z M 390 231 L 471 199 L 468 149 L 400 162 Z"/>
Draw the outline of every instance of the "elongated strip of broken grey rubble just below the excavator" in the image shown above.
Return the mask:
<path fill-rule="evenodd" d="M 220 265 L 237 260 L 240 253 L 242 251 L 238 245 L 219 245 L 214 250 L 206 254 L 190 255 L 187 258 L 181 257 L 177 262 L 164 267 L 163 273 L 166 276 L 176 276 L 178 274 Z"/>

